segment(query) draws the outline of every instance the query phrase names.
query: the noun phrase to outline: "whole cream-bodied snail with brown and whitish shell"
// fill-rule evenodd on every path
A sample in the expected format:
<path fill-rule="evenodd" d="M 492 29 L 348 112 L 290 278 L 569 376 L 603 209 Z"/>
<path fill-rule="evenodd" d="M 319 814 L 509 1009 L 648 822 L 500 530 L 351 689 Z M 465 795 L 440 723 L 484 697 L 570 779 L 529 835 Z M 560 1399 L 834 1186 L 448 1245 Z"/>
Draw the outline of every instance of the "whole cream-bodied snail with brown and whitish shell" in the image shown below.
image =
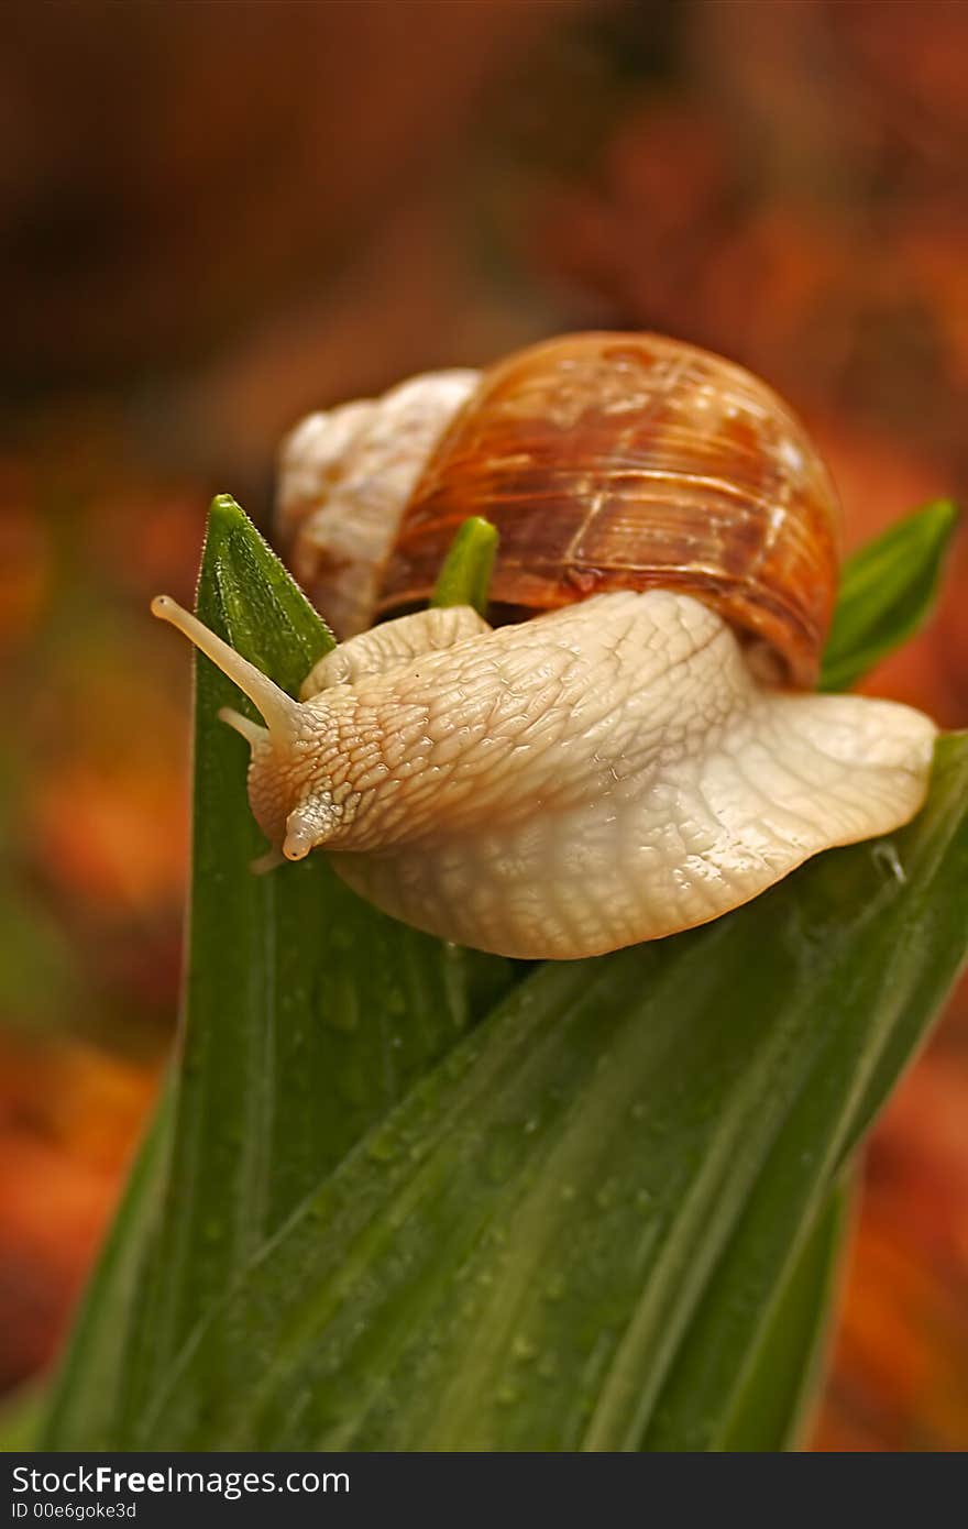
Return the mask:
<path fill-rule="evenodd" d="M 500 532 L 489 621 L 421 609 L 471 514 Z M 265 719 L 223 713 L 275 858 L 323 847 L 417 928 L 512 957 L 616 950 L 924 800 L 927 717 L 810 694 L 840 557 L 827 471 L 707 352 L 572 335 L 310 416 L 280 529 L 346 638 L 301 700 L 153 609 Z"/>

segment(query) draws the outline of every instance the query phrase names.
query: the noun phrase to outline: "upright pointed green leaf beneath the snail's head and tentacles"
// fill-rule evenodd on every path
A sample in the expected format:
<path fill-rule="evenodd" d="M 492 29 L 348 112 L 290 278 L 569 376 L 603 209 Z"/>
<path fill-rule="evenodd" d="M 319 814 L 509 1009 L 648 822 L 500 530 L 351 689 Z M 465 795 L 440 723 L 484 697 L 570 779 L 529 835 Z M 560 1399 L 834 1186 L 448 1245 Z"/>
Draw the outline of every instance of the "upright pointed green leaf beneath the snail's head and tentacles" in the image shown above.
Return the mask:
<path fill-rule="evenodd" d="M 197 610 L 292 693 L 332 647 L 228 495 L 211 508 Z M 116 1443 L 119 1417 L 236 1271 L 514 977 L 509 962 L 376 913 L 323 856 L 254 876 L 265 846 L 248 806 L 246 746 L 217 720 L 223 705 L 254 713 L 208 659 L 197 662 L 196 697 L 188 976 L 161 1222 L 142 1258 L 138 1321 L 112 1352 L 75 1350 L 49 1448 Z M 133 1196 L 132 1216 L 138 1187 Z M 109 1290 L 110 1272 L 84 1318 L 99 1332 L 112 1326 Z"/>

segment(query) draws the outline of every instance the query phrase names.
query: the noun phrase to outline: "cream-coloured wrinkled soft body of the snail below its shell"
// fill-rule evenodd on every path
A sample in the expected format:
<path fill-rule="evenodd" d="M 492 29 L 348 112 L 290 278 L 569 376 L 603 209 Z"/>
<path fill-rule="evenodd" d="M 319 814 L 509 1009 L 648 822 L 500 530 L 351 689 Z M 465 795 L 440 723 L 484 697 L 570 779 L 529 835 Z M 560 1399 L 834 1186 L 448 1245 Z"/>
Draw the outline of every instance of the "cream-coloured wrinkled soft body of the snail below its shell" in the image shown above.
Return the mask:
<path fill-rule="evenodd" d="M 896 829 L 934 739 L 892 702 L 765 688 L 720 616 L 664 590 L 497 631 L 424 612 L 313 680 L 287 734 L 246 734 L 268 836 L 324 847 L 417 928 L 532 959 L 702 924 Z"/>

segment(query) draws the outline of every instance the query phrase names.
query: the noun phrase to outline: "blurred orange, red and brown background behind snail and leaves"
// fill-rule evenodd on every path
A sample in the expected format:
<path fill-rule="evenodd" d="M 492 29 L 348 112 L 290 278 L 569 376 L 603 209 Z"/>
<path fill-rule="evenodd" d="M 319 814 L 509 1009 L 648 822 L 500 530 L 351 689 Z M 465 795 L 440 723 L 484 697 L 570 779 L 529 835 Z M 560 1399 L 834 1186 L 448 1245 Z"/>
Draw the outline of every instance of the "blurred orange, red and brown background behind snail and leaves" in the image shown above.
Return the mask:
<path fill-rule="evenodd" d="M 0 1388 L 171 1046 L 206 503 L 309 408 L 564 329 L 780 388 L 855 546 L 968 479 L 968 8 L 12 0 L 0 38 Z M 968 723 L 968 550 L 872 677 Z M 960 598 L 959 598 L 960 596 Z M 968 992 L 867 1153 L 815 1446 L 968 1446 Z"/>

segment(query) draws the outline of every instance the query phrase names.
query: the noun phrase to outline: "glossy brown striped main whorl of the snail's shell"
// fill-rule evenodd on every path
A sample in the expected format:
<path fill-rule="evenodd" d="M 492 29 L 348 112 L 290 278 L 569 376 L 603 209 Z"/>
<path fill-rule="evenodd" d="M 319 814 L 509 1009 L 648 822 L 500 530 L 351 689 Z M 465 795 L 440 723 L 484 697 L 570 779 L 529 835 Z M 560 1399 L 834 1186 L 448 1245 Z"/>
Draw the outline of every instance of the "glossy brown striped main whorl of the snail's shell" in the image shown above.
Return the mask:
<path fill-rule="evenodd" d="M 500 532 L 492 619 L 610 589 L 674 589 L 815 683 L 840 509 L 803 425 L 720 356 L 659 335 L 569 335 L 489 367 L 404 511 L 378 610 L 424 602 L 454 532 Z"/>

